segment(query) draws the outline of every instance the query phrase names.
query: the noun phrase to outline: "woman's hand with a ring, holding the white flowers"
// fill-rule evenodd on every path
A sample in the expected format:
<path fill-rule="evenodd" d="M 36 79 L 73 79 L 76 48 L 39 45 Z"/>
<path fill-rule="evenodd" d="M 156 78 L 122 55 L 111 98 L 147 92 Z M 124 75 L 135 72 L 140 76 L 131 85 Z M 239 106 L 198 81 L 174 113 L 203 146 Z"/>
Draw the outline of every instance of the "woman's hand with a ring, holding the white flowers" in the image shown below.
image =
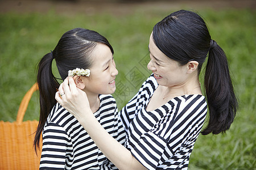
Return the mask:
<path fill-rule="evenodd" d="M 79 121 L 84 120 L 89 113 L 92 113 L 86 93 L 76 87 L 71 76 L 68 76 L 60 84 L 55 99 Z"/>

